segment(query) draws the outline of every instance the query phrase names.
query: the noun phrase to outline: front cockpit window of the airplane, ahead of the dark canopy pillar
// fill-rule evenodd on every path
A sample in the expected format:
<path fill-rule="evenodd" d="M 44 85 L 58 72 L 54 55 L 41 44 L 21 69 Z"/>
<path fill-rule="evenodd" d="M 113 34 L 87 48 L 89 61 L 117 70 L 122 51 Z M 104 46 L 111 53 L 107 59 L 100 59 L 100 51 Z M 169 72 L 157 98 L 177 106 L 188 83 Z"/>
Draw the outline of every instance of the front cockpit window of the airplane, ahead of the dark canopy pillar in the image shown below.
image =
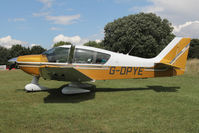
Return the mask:
<path fill-rule="evenodd" d="M 68 62 L 69 48 L 55 47 L 43 53 L 49 62 L 66 63 Z"/>

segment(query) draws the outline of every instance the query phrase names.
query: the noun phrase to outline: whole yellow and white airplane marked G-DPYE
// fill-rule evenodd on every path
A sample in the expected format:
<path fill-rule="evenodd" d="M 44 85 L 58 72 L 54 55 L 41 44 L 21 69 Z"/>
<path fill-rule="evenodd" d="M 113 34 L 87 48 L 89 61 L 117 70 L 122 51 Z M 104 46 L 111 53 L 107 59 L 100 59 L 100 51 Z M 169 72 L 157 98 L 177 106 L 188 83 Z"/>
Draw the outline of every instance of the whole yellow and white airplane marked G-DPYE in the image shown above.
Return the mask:
<path fill-rule="evenodd" d="M 38 84 L 47 80 L 70 81 L 63 94 L 89 92 L 85 81 L 153 78 L 182 75 L 185 71 L 190 38 L 176 37 L 154 58 L 146 59 L 87 46 L 60 46 L 40 55 L 25 55 L 9 60 L 33 76 L 27 91 L 47 88 Z"/>

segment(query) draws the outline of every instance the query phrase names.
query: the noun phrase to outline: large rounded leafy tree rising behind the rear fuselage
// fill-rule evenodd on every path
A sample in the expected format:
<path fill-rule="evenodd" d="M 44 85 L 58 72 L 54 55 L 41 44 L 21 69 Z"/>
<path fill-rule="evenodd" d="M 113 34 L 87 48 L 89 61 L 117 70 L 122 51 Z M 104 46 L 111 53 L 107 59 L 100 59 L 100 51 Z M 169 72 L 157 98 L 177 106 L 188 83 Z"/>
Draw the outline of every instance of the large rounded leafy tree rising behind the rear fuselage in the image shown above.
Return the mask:
<path fill-rule="evenodd" d="M 104 47 L 140 57 L 156 56 L 175 36 L 167 19 L 153 13 L 139 13 L 119 18 L 105 28 Z"/>

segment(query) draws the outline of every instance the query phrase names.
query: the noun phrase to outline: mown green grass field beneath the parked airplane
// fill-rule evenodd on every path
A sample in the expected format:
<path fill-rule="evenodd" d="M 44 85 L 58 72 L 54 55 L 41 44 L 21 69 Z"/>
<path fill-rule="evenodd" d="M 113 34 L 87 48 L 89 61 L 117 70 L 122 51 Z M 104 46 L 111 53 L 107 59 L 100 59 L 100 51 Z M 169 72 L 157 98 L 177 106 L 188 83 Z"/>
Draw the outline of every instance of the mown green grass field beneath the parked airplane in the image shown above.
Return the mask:
<path fill-rule="evenodd" d="M 198 133 L 199 61 L 183 76 L 97 81 L 88 94 L 62 95 L 65 82 L 26 93 L 32 80 L 20 70 L 0 71 L 1 133 Z"/>

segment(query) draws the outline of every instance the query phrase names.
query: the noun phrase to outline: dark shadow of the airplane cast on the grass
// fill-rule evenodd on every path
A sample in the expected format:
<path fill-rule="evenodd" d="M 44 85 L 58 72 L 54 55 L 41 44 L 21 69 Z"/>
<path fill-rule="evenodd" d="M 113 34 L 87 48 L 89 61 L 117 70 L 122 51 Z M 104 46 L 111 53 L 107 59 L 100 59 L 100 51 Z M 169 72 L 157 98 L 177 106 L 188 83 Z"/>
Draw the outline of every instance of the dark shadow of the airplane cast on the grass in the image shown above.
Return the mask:
<path fill-rule="evenodd" d="M 64 86 L 62 86 L 64 87 Z M 49 95 L 44 98 L 45 103 L 79 103 L 95 98 L 96 92 L 122 92 L 122 91 L 144 91 L 153 90 L 155 92 L 177 92 L 180 87 L 164 87 L 164 86 L 147 86 L 146 88 L 96 88 L 93 86 L 89 88 L 91 92 L 83 94 L 64 95 L 61 89 L 47 90 Z"/>

